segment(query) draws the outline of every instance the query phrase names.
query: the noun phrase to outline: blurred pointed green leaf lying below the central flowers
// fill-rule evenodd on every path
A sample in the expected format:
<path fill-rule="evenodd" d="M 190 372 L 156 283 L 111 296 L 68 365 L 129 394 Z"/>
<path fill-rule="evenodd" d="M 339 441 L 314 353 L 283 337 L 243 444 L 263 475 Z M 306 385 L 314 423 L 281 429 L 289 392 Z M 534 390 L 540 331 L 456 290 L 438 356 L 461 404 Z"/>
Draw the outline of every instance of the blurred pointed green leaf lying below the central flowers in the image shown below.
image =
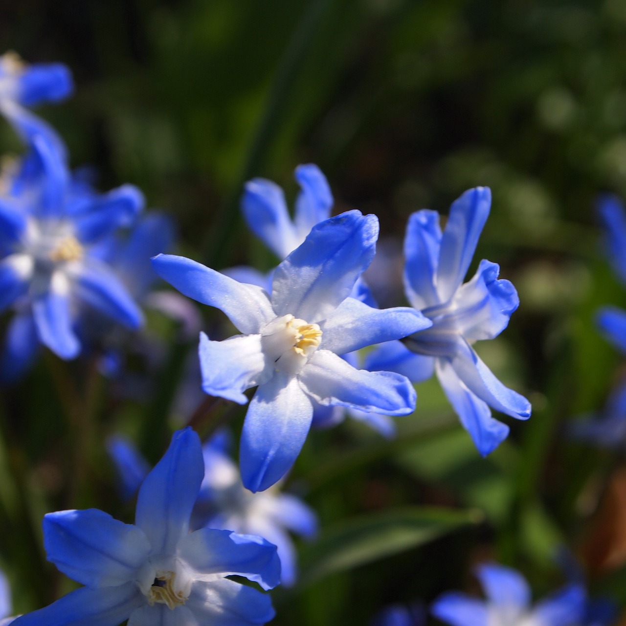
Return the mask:
<path fill-rule="evenodd" d="M 477 510 L 421 506 L 359 516 L 330 528 L 303 550 L 300 586 L 415 548 L 482 519 Z"/>

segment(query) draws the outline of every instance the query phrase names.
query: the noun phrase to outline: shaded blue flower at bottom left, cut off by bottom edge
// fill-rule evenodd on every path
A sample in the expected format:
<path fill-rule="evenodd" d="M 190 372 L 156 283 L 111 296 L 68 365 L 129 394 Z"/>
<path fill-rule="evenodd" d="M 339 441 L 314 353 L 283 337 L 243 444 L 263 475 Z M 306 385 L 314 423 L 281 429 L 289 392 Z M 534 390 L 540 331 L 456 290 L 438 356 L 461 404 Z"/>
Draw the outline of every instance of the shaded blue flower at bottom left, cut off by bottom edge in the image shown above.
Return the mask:
<path fill-rule="evenodd" d="M 143 481 L 135 525 L 98 509 L 48 513 L 48 560 L 85 587 L 18 617 L 15 626 L 115 626 L 126 619 L 132 626 L 243 626 L 272 619 L 269 596 L 227 576 L 275 587 L 275 547 L 223 530 L 189 532 L 203 474 L 200 439 L 185 428 Z"/>

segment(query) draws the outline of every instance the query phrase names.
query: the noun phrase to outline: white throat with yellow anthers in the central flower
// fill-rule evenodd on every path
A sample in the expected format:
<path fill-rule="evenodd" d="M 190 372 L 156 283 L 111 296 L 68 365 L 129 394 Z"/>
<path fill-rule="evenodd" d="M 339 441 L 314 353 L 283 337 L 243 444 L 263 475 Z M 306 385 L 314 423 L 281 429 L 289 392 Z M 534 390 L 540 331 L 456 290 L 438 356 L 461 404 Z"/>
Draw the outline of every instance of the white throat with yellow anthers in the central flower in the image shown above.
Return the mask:
<path fill-rule="evenodd" d="M 322 329 L 291 314 L 277 317 L 261 331 L 264 354 L 279 372 L 297 374 L 322 342 Z"/>

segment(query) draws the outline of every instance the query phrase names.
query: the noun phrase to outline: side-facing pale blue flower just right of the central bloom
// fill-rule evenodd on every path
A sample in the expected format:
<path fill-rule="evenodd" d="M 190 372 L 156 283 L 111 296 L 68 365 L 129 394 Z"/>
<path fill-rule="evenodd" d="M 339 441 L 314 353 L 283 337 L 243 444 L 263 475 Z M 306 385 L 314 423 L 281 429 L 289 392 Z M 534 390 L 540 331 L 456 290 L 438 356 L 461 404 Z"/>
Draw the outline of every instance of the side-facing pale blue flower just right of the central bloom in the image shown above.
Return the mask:
<path fill-rule="evenodd" d="M 436 371 L 454 411 L 476 448 L 489 454 L 508 436 L 506 424 L 491 416 L 490 407 L 513 418 L 530 416 L 530 403 L 505 387 L 471 344 L 493 339 L 508 324 L 519 299 L 508 280 L 498 280 L 500 267 L 482 260 L 473 279 L 462 284 L 491 206 L 491 192 L 478 187 L 465 192 L 450 209 L 441 233 L 439 213 L 413 213 L 404 240 L 404 284 L 409 302 L 433 322 L 424 331 L 382 346 L 366 360 L 367 369 L 391 369 L 414 382 Z"/>

